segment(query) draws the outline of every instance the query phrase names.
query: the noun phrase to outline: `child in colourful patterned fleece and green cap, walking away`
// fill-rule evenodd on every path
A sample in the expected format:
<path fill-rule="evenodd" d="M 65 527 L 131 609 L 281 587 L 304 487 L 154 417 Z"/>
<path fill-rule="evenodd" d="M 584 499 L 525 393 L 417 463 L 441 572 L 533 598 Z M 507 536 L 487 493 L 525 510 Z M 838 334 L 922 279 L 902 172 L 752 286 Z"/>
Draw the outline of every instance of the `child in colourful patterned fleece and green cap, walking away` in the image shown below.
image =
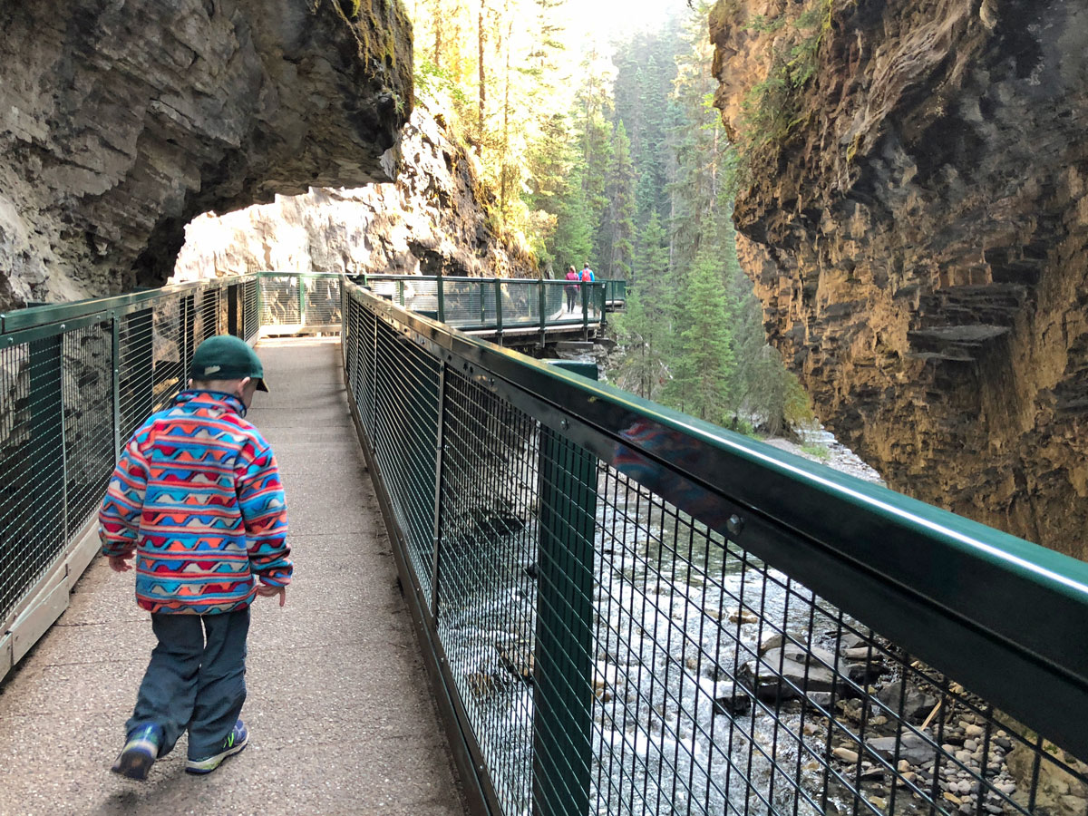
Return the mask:
<path fill-rule="evenodd" d="M 136 603 L 159 640 L 112 767 L 131 779 L 146 779 L 185 731 L 190 774 L 246 746 L 249 604 L 283 606 L 294 569 L 275 457 L 245 420 L 254 393 L 268 391 L 260 360 L 237 337 L 211 337 L 190 376 L 133 434 L 98 514 L 110 567 L 127 571 L 136 555 Z"/>

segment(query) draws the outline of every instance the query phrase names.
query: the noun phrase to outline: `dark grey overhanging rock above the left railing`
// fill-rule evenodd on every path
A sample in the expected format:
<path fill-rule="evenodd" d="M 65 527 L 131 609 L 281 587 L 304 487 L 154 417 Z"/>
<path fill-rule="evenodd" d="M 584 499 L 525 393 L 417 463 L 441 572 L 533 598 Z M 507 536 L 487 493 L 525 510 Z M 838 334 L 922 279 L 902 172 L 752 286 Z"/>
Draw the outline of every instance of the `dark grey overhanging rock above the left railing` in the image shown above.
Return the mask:
<path fill-rule="evenodd" d="M 3 3 L 0 310 L 160 284 L 206 210 L 390 180 L 411 61 L 396 0 Z"/>

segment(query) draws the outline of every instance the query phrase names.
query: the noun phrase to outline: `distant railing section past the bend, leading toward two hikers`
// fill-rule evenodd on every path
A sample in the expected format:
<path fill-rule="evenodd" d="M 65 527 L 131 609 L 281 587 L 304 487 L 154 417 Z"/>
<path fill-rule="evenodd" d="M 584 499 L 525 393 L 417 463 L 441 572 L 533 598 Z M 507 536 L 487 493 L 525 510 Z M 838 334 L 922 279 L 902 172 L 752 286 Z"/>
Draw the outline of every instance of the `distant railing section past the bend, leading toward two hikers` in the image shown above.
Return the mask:
<path fill-rule="evenodd" d="M 466 333 L 504 335 L 591 327 L 607 321 L 609 294 L 625 281 L 574 283 L 514 277 L 364 275 L 375 295 Z"/>

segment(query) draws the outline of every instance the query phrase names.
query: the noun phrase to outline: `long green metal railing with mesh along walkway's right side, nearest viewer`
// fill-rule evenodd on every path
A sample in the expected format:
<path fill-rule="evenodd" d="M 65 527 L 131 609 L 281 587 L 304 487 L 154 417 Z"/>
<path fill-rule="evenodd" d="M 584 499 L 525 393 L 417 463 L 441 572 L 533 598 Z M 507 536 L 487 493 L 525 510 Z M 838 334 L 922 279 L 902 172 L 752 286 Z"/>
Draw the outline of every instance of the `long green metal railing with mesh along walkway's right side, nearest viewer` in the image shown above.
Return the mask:
<path fill-rule="evenodd" d="M 1088 565 L 359 286 L 344 304 L 477 809 L 1088 808 Z"/>

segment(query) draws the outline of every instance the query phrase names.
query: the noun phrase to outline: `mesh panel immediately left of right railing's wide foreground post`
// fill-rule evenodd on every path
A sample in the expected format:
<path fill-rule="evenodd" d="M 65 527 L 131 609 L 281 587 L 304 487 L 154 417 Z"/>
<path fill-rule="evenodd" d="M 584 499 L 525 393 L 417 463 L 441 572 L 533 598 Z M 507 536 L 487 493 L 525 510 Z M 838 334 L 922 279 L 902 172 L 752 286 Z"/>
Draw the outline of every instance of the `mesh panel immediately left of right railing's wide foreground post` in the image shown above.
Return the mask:
<path fill-rule="evenodd" d="M 496 793 L 531 801 L 539 426 L 450 370 L 437 631 Z"/>

